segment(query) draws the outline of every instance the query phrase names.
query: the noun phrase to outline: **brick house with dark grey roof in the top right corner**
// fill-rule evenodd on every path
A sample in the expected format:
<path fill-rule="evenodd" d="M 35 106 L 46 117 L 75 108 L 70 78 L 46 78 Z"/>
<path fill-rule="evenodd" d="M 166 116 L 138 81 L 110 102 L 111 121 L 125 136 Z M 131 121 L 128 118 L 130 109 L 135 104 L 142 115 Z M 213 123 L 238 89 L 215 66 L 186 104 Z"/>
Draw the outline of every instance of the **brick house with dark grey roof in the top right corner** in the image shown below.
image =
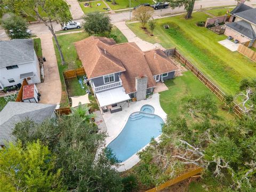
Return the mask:
<path fill-rule="evenodd" d="M 239 43 L 249 42 L 249 47 L 256 47 L 256 8 L 241 3 L 230 14 L 224 34 L 237 39 Z"/>

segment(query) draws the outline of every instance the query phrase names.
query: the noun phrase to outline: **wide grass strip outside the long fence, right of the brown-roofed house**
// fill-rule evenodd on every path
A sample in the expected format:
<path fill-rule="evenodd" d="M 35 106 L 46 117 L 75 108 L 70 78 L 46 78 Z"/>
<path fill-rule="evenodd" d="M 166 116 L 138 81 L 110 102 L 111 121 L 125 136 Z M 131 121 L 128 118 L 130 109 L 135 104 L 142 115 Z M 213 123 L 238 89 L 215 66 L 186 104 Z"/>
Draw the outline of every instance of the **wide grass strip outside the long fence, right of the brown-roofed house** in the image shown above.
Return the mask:
<path fill-rule="evenodd" d="M 185 20 L 184 15 L 157 20 L 155 36 L 140 29 L 140 23 L 130 23 L 130 29 L 140 38 L 150 43 L 160 43 L 164 47 L 177 47 L 199 70 L 217 84 L 222 91 L 235 94 L 243 78 L 256 77 L 256 63 L 238 52 L 231 52 L 218 43 L 226 39 L 204 27 L 197 27 L 197 21 L 208 17 L 203 12 L 193 13 L 193 18 Z M 169 25 L 170 29 L 164 29 Z"/>

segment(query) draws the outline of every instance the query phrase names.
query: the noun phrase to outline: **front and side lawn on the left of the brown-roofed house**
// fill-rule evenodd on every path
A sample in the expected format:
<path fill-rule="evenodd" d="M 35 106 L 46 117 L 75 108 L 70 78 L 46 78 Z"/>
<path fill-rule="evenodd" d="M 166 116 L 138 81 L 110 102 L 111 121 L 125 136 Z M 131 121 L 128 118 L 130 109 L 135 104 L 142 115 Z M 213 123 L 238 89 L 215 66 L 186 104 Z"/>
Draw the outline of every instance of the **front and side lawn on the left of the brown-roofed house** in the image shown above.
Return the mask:
<path fill-rule="evenodd" d="M 121 33 L 121 31 L 119 31 L 119 29 L 117 29 L 116 27 L 114 27 L 112 29 L 111 34 L 116 34 L 118 36 L 117 43 L 127 42 L 127 39 L 124 37 L 124 35 Z M 107 34 L 104 34 L 102 36 L 107 36 Z M 77 68 L 82 67 L 82 63 L 78 59 L 74 43 L 77 41 L 80 41 L 86 37 L 89 37 L 89 35 L 87 33 L 74 33 L 74 34 L 67 34 L 67 35 L 59 35 L 57 37 L 59 44 L 61 46 L 62 53 L 65 58 L 65 61 L 66 61 L 66 65 L 61 64 L 60 54 L 58 52 L 57 46 L 55 45 L 55 41 L 53 39 L 54 49 L 55 49 L 59 73 L 60 73 L 60 80 L 61 80 L 61 84 L 62 84 L 61 107 L 68 106 L 68 98 L 67 98 L 67 94 L 65 92 L 64 79 L 63 79 L 62 73 L 63 73 L 63 71 L 66 71 L 66 70 L 77 69 Z M 78 92 L 80 94 L 79 90 L 78 90 Z M 76 93 L 74 93 L 74 95 L 75 94 Z M 72 95 L 72 96 L 74 96 L 74 95 Z"/>

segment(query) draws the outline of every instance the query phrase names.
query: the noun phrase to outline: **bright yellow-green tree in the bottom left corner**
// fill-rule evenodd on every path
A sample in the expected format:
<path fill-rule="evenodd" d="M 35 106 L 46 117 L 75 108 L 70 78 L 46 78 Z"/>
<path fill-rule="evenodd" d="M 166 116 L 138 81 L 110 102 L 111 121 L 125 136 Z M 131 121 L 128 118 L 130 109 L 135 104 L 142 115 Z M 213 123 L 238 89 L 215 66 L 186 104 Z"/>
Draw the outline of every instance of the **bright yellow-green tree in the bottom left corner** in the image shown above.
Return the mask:
<path fill-rule="evenodd" d="M 1 191 L 65 191 L 55 156 L 41 142 L 21 142 L 0 150 Z"/>

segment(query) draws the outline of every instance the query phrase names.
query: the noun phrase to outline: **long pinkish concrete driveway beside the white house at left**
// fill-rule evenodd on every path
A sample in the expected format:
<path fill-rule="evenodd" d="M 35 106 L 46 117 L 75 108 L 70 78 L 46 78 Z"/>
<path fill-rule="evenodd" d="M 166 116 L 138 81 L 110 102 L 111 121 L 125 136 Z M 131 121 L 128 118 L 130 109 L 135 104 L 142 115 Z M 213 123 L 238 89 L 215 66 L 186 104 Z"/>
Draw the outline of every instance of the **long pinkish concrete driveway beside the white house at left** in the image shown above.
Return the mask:
<path fill-rule="evenodd" d="M 52 34 L 38 35 L 41 38 L 44 62 L 44 82 L 37 84 L 41 93 L 40 103 L 59 104 L 61 99 L 61 82 L 57 59 L 52 42 Z"/>

